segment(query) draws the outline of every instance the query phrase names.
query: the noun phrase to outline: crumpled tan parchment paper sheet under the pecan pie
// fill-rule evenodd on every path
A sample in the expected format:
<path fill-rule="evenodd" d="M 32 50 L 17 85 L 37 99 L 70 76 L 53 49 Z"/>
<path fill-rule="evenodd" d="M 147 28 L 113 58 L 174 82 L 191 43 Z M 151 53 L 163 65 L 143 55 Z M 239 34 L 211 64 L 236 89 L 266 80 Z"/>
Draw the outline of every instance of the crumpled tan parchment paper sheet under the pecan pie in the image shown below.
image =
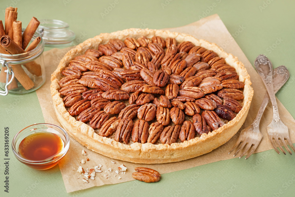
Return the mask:
<path fill-rule="evenodd" d="M 252 100 L 252 104 L 247 116 L 247 119 L 240 129 L 240 131 L 246 127 L 248 127 L 256 116 L 262 99 L 266 93 L 266 89 L 261 81 L 259 75 L 251 65 L 251 63 L 246 58 L 245 54 L 242 52 L 240 47 L 237 45 L 235 40 L 232 38 L 230 33 L 228 32 L 227 28 L 223 24 L 222 20 L 219 18 L 217 14 L 203 18 L 197 22 L 192 24 L 183 26 L 183 27 L 176 27 L 176 28 L 169 28 L 167 30 L 175 31 L 175 32 L 183 32 L 190 34 L 198 39 L 205 39 L 209 42 L 217 43 L 217 45 L 224 48 L 224 51 L 227 53 L 232 53 L 239 58 L 241 62 L 245 64 L 245 67 L 248 73 L 251 76 L 252 87 L 254 89 L 254 97 Z M 52 49 L 50 51 L 44 52 L 45 58 L 45 67 L 46 67 L 46 82 L 45 84 L 37 90 L 37 96 L 42 108 L 43 116 L 46 123 L 53 123 L 56 125 L 60 125 L 58 122 L 55 111 L 53 108 L 53 102 L 50 96 L 50 76 L 51 73 L 56 69 L 60 59 L 64 56 L 64 54 L 70 48 L 66 49 Z M 257 54 L 259 55 L 259 54 Z M 277 67 L 279 65 L 274 65 Z M 259 93 L 258 93 L 259 92 Z M 278 109 L 281 116 L 283 123 L 286 124 L 289 128 L 289 133 L 291 137 L 291 141 L 295 141 L 295 121 L 291 114 L 286 110 L 286 108 L 282 105 L 282 103 L 277 100 L 278 102 Z M 272 108 L 270 103 L 268 104 L 262 118 L 260 121 L 260 131 L 263 134 L 263 138 L 260 142 L 260 145 L 256 149 L 256 152 L 263 152 L 269 149 L 272 149 L 272 146 L 268 140 L 266 126 L 272 120 Z M 92 152 L 88 150 L 86 147 L 79 144 L 76 140 L 71 137 L 70 149 L 62 161 L 59 163 L 60 171 L 63 176 L 63 181 L 65 183 L 65 188 L 67 192 L 78 191 L 86 188 L 90 188 L 93 186 L 100 186 L 104 184 L 115 184 L 115 183 L 122 183 L 130 180 L 134 180 L 132 178 L 132 172 L 134 172 L 135 167 L 149 167 L 152 169 L 157 170 L 161 174 L 167 172 L 174 172 L 177 170 L 184 170 L 191 167 L 196 167 L 199 165 L 204 165 L 220 160 L 232 159 L 233 154 L 228 154 L 230 149 L 233 147 L 235 142 L 240 135 L 240 131 L 233 136 L 226 144 L 220 146 L 219 148 L 213 150 L 210 153 L 205 155 L 201 155 L 199 157 L 189 159 L 186 161 L 181 162 L 174 162 L 168 164 L 154 164 L 154 165 L 141 165 L 141 164 L 133 164 L 130 162 L 123 162 L 116 159 L 111 159 L 100 155 L 98 153 Z M 81 154 L 82 149 L 87 152 L 87 156 L 83 156 Z M 85 164 L 81 164 L 81 159 L 85 159 L 88 157 L 90 160 L 86 161 Z M 252 156 L 254 157 L 254 156 Z M 111 161 L 116 162 L 115 164 Z M 82 181 L 82 176 L 80 173 L 77 172 L 79 166 L 82 166 L 84 169 L 93 168 L 94 166 L 101 164 L 101 170 L 103 172 L 96 173 L 95 180 L 90 180 L 89 183 L 84 183 Z M 121 164 L 124 164 L 127 167 L 126 174 L 119 174 L 114 177 L 116 174 L 114 171 L 118 170 L 117 167 Z M 112 169 L 110 172 L 109 169 Z M 105 175 L 109 175 L 109 178 L 106 178 Z M 121 179 L 118 179 L 119 176 Z"/>

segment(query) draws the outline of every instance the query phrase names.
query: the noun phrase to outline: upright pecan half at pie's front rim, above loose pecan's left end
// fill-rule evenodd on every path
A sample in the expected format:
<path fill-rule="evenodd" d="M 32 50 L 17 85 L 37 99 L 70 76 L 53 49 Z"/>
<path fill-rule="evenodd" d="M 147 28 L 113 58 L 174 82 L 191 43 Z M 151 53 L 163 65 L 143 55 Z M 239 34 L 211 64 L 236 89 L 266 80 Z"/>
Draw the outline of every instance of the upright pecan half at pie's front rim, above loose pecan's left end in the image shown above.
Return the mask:
<path fill-rule="evenodd" d="M 132 129 L 132 141 L 146 143 L 148 141 L 148 122 L 145 120 L 137 120 Z"/>

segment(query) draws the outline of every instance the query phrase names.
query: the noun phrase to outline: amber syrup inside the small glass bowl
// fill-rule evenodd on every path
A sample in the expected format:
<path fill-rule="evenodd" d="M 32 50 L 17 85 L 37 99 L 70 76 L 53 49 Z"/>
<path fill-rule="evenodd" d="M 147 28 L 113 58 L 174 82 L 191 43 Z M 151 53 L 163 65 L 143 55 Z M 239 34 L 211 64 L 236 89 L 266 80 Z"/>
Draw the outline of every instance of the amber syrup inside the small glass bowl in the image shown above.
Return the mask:
<path fill-rule="evenodd" d="M 19 144 L 19 154 L 33 161 L 52 157 L 64 148 L 63 140 L 54 133 L 38 132 L 24 138 Z"/>

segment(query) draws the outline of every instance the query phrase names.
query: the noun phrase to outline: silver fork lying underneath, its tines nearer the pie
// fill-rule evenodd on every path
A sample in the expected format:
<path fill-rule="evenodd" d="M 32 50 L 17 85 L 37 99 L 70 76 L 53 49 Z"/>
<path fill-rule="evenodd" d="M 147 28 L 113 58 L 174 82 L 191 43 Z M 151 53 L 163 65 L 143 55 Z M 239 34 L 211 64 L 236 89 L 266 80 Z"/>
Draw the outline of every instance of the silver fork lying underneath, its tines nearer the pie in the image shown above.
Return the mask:
<path fill-rule="evenodd" d="M 274 69 L 273 72 L 273 87 L 275 92 L 278 92 L 278 90 L 281 89 L 281 87 L 286 83 L 290 74 L 285 66 L 279 66 L 278 68 Z M 241 131 L 237 142 L 228 154 L 232 153 L 232 151 L 235 148 L 237 148 L 237 151 L 234 154 L 235 157 L 237 154 L 239 154 L 241 150 L 244 150 L 240 155 L 241 158 L 251 149 L 251 151 L 245 158 L 248 159 L 251 156 L 251 154 L 256 150 L 258 144 L 262 139 L 262 134 L 259 130 L 259 123 L 268 102 L 269 96 L 268 93 L 266 93 L 253 123 Z"/>

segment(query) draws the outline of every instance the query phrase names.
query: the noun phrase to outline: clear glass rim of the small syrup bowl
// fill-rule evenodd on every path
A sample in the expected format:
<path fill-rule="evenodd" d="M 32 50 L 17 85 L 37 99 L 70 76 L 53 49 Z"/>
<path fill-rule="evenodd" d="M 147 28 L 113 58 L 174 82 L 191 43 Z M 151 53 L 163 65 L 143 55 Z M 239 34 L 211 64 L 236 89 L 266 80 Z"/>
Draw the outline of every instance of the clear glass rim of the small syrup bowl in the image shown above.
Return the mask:
<path fill-rule="evenodd" d="M 64 136 L 65 136 L 64 148 L 60 152 L 58 152 L 58 153 L 54 154 L 53 156 L 48 157 L 47 159 L 44 159 L 44 160 L 30 160 L 30 159 L 26 159 L 26 158 L 22 157 L 18 153 L 18 151 L 16 150 L 16 147 L 15 147 L 15 142 L 16 142 L 17 136 L 19 135 L 19 133 L 24 131 L 26 128 L 29 128 L 31 126 L 36 126 L 36 125 L 49 125 L 49 126 L 59 128 L 62 131 L 61 133 L 64 134 Z M 25 136 L 25 137 L 27 137 L 27 136 Z M 68 136 L 68 133 L 65 131 L 65 129 L 61 128 L 60 126 L 57 126 L 55 124 L 50 124 L 50 123 L 37 123 L 37 124 L 32 124 L 30 126 L 27 126 L 27 127 L 23 128 L 22 130 L 20 130 L 19 132 L 17 132 L 17 134 L 15 134 L 14 138 L 12 139 L 12 151 L 13 151 L 14 155 L 17 157 L 17 159 L 19 159 L 20 161 L 22 161 L 24 163 L 35 164 L 35 165 L 49 164 L 49 163 L 52 163 L 52 162 L 55 162 L 55 161 L 61 159 L 68 152 L 69 146 L 70 146 L 70 138 Z M 56 157 L 57 155 L 60 155 L 60 156 L 55 159 L 52 159 L 52 158 Z"/>

